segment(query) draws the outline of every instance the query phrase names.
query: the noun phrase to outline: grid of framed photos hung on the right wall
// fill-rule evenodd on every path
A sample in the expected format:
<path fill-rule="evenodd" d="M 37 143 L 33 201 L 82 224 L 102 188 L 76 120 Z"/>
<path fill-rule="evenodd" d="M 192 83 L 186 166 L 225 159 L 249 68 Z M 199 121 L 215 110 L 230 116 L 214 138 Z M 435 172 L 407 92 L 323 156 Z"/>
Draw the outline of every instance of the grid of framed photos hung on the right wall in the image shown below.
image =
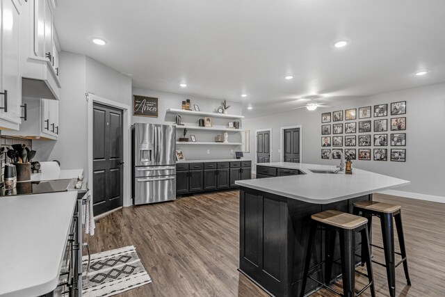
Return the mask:
<path fill-rule="evenodd" d="M 321 114 L 321 159 L 406 161 L 406 101 Z"/>

